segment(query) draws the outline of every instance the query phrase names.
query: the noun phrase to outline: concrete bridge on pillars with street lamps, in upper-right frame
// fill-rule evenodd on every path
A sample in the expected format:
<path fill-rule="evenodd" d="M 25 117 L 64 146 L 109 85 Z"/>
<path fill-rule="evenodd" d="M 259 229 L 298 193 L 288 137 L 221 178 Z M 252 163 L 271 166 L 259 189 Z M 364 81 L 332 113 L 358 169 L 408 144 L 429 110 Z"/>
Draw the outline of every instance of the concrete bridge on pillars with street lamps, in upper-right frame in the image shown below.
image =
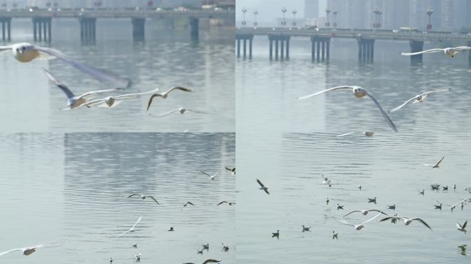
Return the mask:
<path fill-rule="evenodd" d="M 471 46 L 471 34 L 458 34 L 452 32 L 402 32 L 392 30 L 357 30 L 357 29 L 331 29 L 331 28 L 238 28 L 235 32 L 237 41 L 237 56 L 252 57 L 253 36 L 268 36 L 269 58 L 289 59 L 289 41 L 291 37 L 304 37 L 311 39 L 311 58 L 313 61 L 324 61 L 330 57 L 330 43 L 332 38 L 356 39 L 358 43 L 358 58 L 360 61 L 373 61 L 375 40 L 409 41 L 410 52 L 423 50 L 425 41 L 447 41 L 457 45 Z M 247 52 L 247 44 L 249 51 Z M 273 52 L 274 44 L 274 52 Z M 471 65 L 471 52 L 468 52 Z M 410 56 L 410 62 L 422 62 L 422 55 Z"/>

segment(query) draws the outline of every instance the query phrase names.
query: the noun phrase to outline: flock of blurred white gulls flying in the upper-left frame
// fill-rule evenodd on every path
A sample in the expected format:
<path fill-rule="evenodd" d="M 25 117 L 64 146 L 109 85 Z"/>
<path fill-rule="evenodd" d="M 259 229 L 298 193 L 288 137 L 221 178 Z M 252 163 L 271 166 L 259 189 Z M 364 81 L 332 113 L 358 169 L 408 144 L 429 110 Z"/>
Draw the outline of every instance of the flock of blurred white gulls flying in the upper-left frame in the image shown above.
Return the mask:
<path fill-rule="evenodd" d="M 0 53 L 11 51 L 13 57 L 21 62 L 21 63 L 29 63 L 34 60 L 41 60 L 41 59 L 54 59 L 57 58 L 69 65 L 72 65 L 76 69 L 81 70 L 85 74 L 88 74 L 97 80 L 100 80 L 103 83 L 108 85 L 109 89 L 100 89 L 94 91 L 87 91 L 81 95 L 76 95 L 72 90 L 67 87 L 64 83 L 62 83 L 59 79 L 53 76 L 53 74 L 48 71 L 48 69 L 43 69 L 45 75 L 48 77 L 51 83 L 53 83 L 57 88 L 61 89 L 65 96 L 67 97 L 67 107 L 64 107 L 63 110 L 72 110 L 78 108 L 91 108 L 91 107 L 99 107 L 99 108 L 113 108 L 116 107 L 118 104 L 121 104 L 124 100 L 132 99 L 132 98 L 140 98 L 141 96 L 149 96 L 147 100 L 147 104 L 145 105 L 145 112 L 149 111 L 152 103 L 156 98 L 166 99 L 169 94 L 173 94 L 175 91 L 182 91 L 182 92 L 193 92 L 193 89 L 181 86 L 174 86 L 168 89 L 167 91 L 160 91 L 157 89 L 152 89 L 150 91 L 144 91 L 140 93 L 132 93 L 132 94 L 116 94 L 116 95 L 109 95 L 103 98 L 94 98 L 98 94 L 110 94 L 116 93 L 118 91 L 123 92 L 125 89 L 129 89 L 132 86 L 132 83 L 127 80 L 126 78 L 122 78 L 117 74 L 113 74 L 108 72 L 104 69 L 98 69 L 96 67 L 92 67 L 90 65 L 86 65 L 85 63 L 81 63 L 76 61 L 65 54 L 60 52 L 59 50 L 54 50 L 50 47 L 40 47 L 37 45 L 32 45 L 30 43 L 16 43 L 7 46 L 0 46 Z M 154 114 L 149 113 L 149 116 L 153 116 L 156 118 L 163 118 L 171 113 L 180 113 L 181 115 L 185 113 L 197 113 L 197 114 L 206 114 L 205 111 L 198 111 L 194 109 L 186 109 L 185 107 L 178 107 L 177 109 L 173 109 L 167 111 L 165 113 Z"/>

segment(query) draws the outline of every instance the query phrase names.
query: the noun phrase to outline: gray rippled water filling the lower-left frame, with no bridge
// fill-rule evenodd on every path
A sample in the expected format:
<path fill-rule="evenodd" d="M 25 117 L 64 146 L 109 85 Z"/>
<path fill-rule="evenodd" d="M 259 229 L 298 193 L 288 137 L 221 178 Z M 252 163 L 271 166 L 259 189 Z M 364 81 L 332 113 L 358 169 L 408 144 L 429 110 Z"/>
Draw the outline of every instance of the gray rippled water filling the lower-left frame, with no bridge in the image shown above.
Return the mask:
<path fill-rule="evenodd" d="M 139 253 L 142 263 L 235 263 L 235 206 L 216 206 L 235 200 L 235 178 L 198 172 L 234 166 L 234 154 L 233 133 L 0 134 L 0 252 L 63 243 L 2 263 L 132 263 Z M 126 199 L 134 192 L 160 205 Z M 182 210 L 186 201 L 195 207 Z M 136 232 L 116 238 L 141 214 Z"/>

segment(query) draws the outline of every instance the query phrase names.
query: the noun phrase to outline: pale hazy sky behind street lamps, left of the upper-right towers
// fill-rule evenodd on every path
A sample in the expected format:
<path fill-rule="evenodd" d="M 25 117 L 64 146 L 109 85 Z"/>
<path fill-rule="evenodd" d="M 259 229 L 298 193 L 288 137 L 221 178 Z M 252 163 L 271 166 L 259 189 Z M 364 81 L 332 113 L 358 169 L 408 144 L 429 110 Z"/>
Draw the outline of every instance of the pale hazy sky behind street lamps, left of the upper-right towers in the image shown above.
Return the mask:
<path fill-rule="evenodd" d="M 247 21 L 253 21 L 253 10 L 258 10 L 258 21 L 273 22 L 277 17 L 282 17 L 282 8 L 286 7 L 286 17 L 293 16 L 291 11 L 297 11 L 297 17 L 304 17 L 304 0 L 237 0 L 235 6 L 235 18 L 242 21 L 242 8 L 247 8 L 245 14 Z M 325 10 L 327 0 L 319 1 L 319 10 Z M 324 12 L 321 12 L 321 16 Z"/>

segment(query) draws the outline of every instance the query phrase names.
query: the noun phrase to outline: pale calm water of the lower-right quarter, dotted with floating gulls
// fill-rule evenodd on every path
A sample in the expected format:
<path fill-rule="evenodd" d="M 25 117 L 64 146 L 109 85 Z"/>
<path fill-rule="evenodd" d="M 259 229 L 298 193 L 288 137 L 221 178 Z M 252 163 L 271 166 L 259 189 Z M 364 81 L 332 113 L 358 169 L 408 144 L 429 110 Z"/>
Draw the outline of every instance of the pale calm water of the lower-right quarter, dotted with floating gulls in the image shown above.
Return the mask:
<path fill-rule="evenodd" d="M 430 184 L 457 184 L 457 190 L 470 186 L 468 131 L 335 135 L 237 133 L 238 261 L 461 263 L 453 245 L 466 243 L 468 236 L 457 230 L 456 222 L 468 219 L 471 207 L 451 212 L 448 206 L 435 210 L 434 204 L 455 203 L 470 194 L 435 192 Z M 423 166 L 442 155 L 446 158 L 439 169 Z M 322 184 L 321 175 L 331 179 L 330 188 Z M 258 190 L 257 178 L 270 195 Z M 422 189 L 424 195 L 419 194 Z M 377 203 L 368 203 L 373 197 Z M 337 203 L 344 210 L 337 210 Z M 388 210 L 392 204 L 396 209 Z M 433 231 L 420 223 L 377 221 L 355 231 L 334 219 L 368 209 L 421 217 Z M 374 215 L 350 214 L 348 222 L 362 223 Z M 311 232 L 302 232 L 302 225 L 312 226 Z M 276 230 L 279 240 L 271 238 Z M 338 240 L 332 239 L 333 231 Z"/>

